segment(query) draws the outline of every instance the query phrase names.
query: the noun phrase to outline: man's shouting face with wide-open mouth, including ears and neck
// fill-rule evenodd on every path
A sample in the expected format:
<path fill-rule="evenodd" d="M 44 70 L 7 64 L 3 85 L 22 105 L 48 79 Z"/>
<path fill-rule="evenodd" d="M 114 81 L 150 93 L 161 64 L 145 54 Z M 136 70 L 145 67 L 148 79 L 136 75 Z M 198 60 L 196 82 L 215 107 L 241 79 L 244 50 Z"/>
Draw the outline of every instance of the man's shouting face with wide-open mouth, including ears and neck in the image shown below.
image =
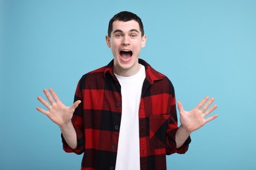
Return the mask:
<path fill-rule="evenodd" d="M 111 37 L 106 43 L 114 56 L 114 73 L 120 76 L 135 75 L 139 67 L 140 50 L 146 45 L 146 36 L 141 37 L 138 22 L 113 22 Z"/>

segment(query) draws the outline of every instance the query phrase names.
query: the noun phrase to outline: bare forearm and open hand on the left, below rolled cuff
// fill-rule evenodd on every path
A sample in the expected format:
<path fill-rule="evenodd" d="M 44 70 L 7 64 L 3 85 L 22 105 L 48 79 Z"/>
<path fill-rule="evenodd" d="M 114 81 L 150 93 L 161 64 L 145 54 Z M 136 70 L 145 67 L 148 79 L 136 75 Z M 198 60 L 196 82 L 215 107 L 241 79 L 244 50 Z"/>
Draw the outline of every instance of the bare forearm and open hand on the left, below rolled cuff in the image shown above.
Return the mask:
<path fill-rule="evenodd" d="M 41 109 L 37 107 L 36 109 L 43 114 L 46 114 L 50 120 L 52 120 L 55 124 L 57 124 L 61 131 L 64 139 L 68 143 L 68 145 L 75 149 L 77 147 L 77 137 L 75 133 L 74 126 L 72 124 L 72 116 L 81 101 L 75 101 L 74 105 L 71 107 L 66 107 L 63 103 L 58 99 L 58 96 L 53 91 L 53 89 L 49 89 L 53 97 L 51 97 L 50 93 L 45 89 L 43 92 L 45 93 L 49 103 L 45 101 L 42 97 L 37 97 L 37 99 L 47 107 L 47 110 Z"/>

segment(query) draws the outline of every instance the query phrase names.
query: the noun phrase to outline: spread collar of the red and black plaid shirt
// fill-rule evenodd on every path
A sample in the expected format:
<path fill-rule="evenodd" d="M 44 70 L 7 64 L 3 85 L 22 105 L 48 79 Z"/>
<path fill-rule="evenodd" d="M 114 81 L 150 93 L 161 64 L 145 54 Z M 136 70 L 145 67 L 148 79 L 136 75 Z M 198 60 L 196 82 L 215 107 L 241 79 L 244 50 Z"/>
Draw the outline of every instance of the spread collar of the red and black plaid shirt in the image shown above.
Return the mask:
<path fill-rule="evenodd" d="M 163 75 L 161 73 L 159 73 L 158 71 L 156 71 L 155 69 L 153 69 L 146 61 L 139 58 L 139 63 L 144 65 L 144 67 L 146 69 L 146 79 L 150 82 L 150 84 L 153 84 L 154 81 L 156 81 L 156 80 L 163 79 Z M 112 59 L 112 61 L 110 61 L 110 63 L 108 63 L 108 65 L 106 65 L 106 67 L 104 69 L 104 77 L 106 76 L 106 73 L 110 73 L 110 75 L 112 75 L 112 77 L 116 79 L 116 76 L 114 75 L 113 68 L 114 68 L 114 59 Z"/>

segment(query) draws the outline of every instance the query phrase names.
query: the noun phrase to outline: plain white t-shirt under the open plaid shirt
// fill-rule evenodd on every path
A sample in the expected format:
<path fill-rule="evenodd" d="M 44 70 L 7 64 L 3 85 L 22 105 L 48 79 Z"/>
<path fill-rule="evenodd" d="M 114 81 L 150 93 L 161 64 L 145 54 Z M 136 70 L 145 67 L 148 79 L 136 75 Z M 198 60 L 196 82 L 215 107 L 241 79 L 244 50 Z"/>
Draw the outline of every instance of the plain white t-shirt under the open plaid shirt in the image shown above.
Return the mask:
<path fill-rule="evenodd" d="M 116 170 L 140 169 L 139 105 L 145 67 L 133 76 L 118 76 L 121 85 L 121 125 L 117 148 Z"/>

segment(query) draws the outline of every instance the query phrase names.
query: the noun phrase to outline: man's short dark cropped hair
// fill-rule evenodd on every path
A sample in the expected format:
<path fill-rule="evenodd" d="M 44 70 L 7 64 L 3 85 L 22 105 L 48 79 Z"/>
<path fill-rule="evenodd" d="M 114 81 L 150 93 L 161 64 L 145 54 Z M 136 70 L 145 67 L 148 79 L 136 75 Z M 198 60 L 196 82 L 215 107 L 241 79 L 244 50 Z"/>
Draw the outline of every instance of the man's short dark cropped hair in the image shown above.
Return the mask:
<path fill-rule="evenodd" d="M 144 27 L 143 27 L 142 21 L 140 20 L 139 16 L 137 16 L 136 14 L 133 14 L 132 12 L 128 12 L 128 11 L 119 12 L 118 14 L 114 15 L 113 18 L 111 18 L 110 22 L 108 23 L 108 36 L 110 37 L 110 35 L 111 35 L 111 32 L 113 30 L 113 22 L 114 21 L 128 22 L 131 20 L 135 20 L 136 22 L 138 22 L 138 24 L 140 26 L 141 36 L 144 36 Z"/>

